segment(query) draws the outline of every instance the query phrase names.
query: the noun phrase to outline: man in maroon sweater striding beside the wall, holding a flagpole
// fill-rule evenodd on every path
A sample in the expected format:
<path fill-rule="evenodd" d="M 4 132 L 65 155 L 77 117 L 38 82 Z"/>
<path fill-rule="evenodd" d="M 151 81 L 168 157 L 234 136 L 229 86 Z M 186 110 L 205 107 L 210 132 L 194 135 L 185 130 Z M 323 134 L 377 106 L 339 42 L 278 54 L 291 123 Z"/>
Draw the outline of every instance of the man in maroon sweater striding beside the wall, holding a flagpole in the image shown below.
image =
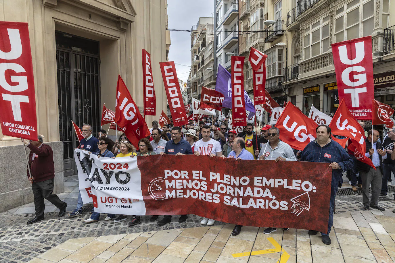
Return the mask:
<path fill-rule="evenodd" d="M 34 207 L 36 217 L 29 220 L 27 224 L 44 220 L 44 198 L 59 208 L 59 217 L 66 213 L 67 203 L 60 201 L 58 196 L 53 193 L 53 183 L 55 177 L 55 165 L 53 163 L 53 152 L 51 146 L 43 144 L 43 137 L 38 135 L 38 142 L 23 140 L 24 144 L 31 150 L 29 153 L 29 166 L 32 178 L 27 176 L 32 183 L 34 194 Z"/>

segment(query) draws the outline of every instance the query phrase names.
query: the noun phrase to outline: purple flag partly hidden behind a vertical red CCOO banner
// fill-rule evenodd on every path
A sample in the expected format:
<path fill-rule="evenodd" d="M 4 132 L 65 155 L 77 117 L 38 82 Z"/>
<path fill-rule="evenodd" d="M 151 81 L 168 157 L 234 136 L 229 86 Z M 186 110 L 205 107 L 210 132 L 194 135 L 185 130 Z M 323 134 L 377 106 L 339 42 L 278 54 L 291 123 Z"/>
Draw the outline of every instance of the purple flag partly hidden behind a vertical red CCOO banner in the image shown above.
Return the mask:
<path fill-rule="evenodd" d="M 224 94 L 225 99 L 222 102 L 222 107 L 232 108 L 231 74 L 224 67 L 222 67 L 221 64 L 218 65 L 215 90 Z M 245 90 L 244 99 L 246 102 L 246 110 L 248 110 L 250 112 L 250 115 L 253 116 L 255 112 L 255 107 Z"/>

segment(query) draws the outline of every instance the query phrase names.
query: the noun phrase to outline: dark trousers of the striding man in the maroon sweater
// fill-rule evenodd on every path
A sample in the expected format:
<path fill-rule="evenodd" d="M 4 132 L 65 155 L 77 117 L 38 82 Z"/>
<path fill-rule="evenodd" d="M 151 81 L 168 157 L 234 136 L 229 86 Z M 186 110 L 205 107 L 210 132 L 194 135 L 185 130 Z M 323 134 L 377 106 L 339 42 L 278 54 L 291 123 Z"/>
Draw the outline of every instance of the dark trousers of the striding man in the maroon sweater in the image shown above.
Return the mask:
<path fill-rule="evenodd" d="M 49 179 L 42 182 L 32 183 L 34 195 L 34 208 L 36 209 L 36 217 L 44 217 L 44 198 L 53 203 L 58 209 L 64 208 L 65 202 L 60 201 L 58 196 L 53 193 L 53 183 L 55 179 Z"/>

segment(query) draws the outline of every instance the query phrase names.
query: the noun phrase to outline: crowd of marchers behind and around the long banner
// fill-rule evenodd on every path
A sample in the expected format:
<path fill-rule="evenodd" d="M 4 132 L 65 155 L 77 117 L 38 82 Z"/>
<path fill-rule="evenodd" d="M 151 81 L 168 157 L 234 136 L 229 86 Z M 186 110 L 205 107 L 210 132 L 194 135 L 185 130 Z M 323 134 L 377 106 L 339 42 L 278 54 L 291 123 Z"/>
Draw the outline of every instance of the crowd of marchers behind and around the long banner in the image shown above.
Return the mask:
<path fill-rule="evenodd" d="M 364 128 L 364 123 L 360 125 Z M 233 158 L 236 160 L 275 160 L 279 161 L 306 161 L 306 162 L 326 162 L 332 169 L 331 180 L 331 198 L 329 203 L 329 222 L 328 233 L 321 233 L 322 242 L 324 244 L 331 244 L 329 232 L 331 231 L 333 223 L 333 213 L 335 211 L 335 196 L 339 187 L 342 186 L 343 172 L 347 172 L 347 177 L 350 180 L 352 191 L 357 191 L 356 187 L 361 188 L 363 194 L 363 209 L 369 210 L 371 208 L 380 211 L 385 210 L 378 205 L 379 197 L 387 197 L 387 181 L 391 179 L 391 172 L 395 174 L 395 151 L 393 145 L 395 142 L 395 126 L 389 129 L 388 134 L 380 140 L 380 134 L 376 130 L 370 129 L 365 132 L 366 153 L 376 169 L 370 167 L 357 160 L 354 153 L 343 148 L 340 144 L 333 140 L 331 129 L 326 125 L 319 125 L 316 129 L 316 139 L 311 141 L 303 151 L 297 151 L 285 142 L 280 140 L 280 131 L 276 127 L 269 124 L 263 124 L 259 127 L 259 131 L 254 131 L 254 125 L 247 123 L 243 127 L 243 131 L 237 133 L 233 129 L 229 129 L 226 121 L 220 122 L 215 117 L 199 121 L 198 125 L 194 124 L 193 119 L 189 120 L 184 127 L 173 127 L 172 124 L 158 127 L 158 122 L 152 122 L 150 129 L 150 136 L 139 141 L 138 151 L 130 143 L 125 134 L 121 134 L 119 140 L 113 142 L 106 137 L 104 130 L 98 132 L 98 137 L 92 135 L 92 126 L 84 125 L 81 129 L 84 138 L 80 142 L 80 148 L 85 149 L 90 153 L 94 153 L 99 157 L 131 157 L 136 155 L 143 155 L 149 157 L 150 155 L 208 155 L 211 157 Z M 42 139 L 41 139 L 42 141 Z M 25 141 L 31 149 L 31 155 L 43 155 L 43 147 L 36 145 L 34 142 Z M 42 144 L 42 142 L 41 142 Z M 45 144 L 42 144 L 45 145 Z M 40 150 L 41 147 L 41 150 Z M 49 147 L 50 148 L 50 147 Z M 33 157 L 34 160 L 34 157 Z M 33 161 L 32 160 L 32 161 Z M 38 177 L 34 177 L 38 171 L 34 170 L 34 164 L 30 164 L 34 179 L 32 180 L 35 188 L 41 187 L 38 182 Z M 44 178 L 48 179 L 48 178 Z M 49 178 L 50 179 L 50 178 Z M 52 177 L 53 180 L 53 177 Z M 32 187 L 33 187 L 32 186 Z M 53 181 L 52 181 L 53 186 Z M 371 186 L 371 194 L 369 188 Z M 43 198 L 53 202 L 59 209 L 60 215 L 64 215 L 65 204 L 54 196 L 38 194 L 38 190 L 34 190 L 34 201 L 36 205 L 36 218 L 43 220 Z M 37 193 L 37 194 L 36 194 Z M 42 191 L 41 191 L 42 193 Z M 52 194 L 52 192 L 51 192 Z M 36 196 L 37 195 L 37 196 Z M 395 198 L 394 198 L 395 201 Z M 66 204 L 67 205 L 67 204 Z M 42 206 L 42 207 L 41 207 Z M 81 194 L 79 194 L 77 206 L 74 211 L 69 214 L 71 217 L 82 215 L 83 201 Z M 91 211 L 90 218 L 85 220 L 86 223 L 97 222 L 100 218 L 100 213 Z M 161 220 L 157 222 L 159 226 L 163 226 L 171 222 L 172 215 L 164 215 Z M 42 218 L 42 219 L 41 219 Z M 140 224 L 140 216 L 132 216 L 129 222 L 130 226 Z M 156 221 L 158 215 L 151 216 L 150 221 Z M 185 222 L 187 215 L 181 215 L 179 222 Z M 126 215 L 107 214 L 104 220 L 112 220 L 114 222 L 121 222 L 127 220 Z M 33 221 L 34 221 L 33 220 Z M 34 222 L 36 222 L 34 221 Z M 34 223 L 28 222 L 28 224 Z M 214 219 L 204 217 L 201 220 L 202 225 L 211 226 L 215 222 Z M 239 235 L 242 226 L 236 225 L 233 229 L 232 235 Z M 284 228 L 287 231 L 288 228 Z M 276 228 L 266 228 L 263 233 L 269 234 L 276 231 Z M 318 231 L 309 230 L 309 235 L 316 235 Z"/>

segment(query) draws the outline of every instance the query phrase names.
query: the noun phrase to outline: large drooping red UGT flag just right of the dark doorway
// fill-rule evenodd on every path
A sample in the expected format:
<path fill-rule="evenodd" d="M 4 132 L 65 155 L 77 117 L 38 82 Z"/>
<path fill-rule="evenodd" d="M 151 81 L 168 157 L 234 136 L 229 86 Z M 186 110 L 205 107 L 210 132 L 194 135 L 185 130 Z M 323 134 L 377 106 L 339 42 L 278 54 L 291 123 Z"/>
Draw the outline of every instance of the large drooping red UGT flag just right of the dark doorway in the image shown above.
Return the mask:
<path fill-rule="evenodd" d="M 139 112 L 121 76 L 118 75 L 115 122 L 125 129 L 126 137 L 138 148 L 139 140 L 150 135 L 147 123 Z"/>

